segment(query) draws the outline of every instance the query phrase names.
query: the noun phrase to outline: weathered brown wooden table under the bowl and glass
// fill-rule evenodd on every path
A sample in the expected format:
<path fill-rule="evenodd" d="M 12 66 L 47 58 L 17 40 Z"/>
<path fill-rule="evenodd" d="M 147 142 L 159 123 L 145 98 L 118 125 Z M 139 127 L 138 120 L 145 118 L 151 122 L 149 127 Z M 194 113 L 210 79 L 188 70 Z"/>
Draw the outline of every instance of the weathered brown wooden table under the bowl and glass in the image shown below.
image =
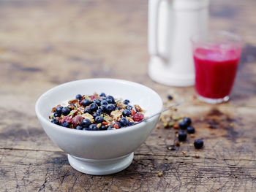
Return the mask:
<path fill-rule="evenodd" d="M 211 2 L 211 28 L 244 38 L 232 99 L 211 105 L 192 87 L 148 77 L 146 0 L 0 1 L 0 191 L 256 191 L 255 8 L 255 0 Z M 55 85 L 91 77 L 143 83 L 165 102 L 168 93 L 184 98 L 176 115 L 192 118 L 195 138 L 167 150 L 176 129 L 159 123 L 124 171 L 77 172 L 34 104 Z M 202 150 L 190 145 L 198 138 Z"/>

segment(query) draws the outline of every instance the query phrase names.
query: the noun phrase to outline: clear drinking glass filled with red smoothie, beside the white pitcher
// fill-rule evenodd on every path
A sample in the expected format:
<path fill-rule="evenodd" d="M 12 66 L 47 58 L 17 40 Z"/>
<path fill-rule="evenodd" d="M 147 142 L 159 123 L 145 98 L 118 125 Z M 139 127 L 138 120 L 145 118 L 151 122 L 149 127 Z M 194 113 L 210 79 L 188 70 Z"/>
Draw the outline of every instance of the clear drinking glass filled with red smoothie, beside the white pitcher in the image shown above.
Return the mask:
<path fill-rule="evenodd" d="M 230 99 L 241 56 L 241 38 L 228 31 L 197 33 L 191 38 L 197 97 L 210 104 Z"/>

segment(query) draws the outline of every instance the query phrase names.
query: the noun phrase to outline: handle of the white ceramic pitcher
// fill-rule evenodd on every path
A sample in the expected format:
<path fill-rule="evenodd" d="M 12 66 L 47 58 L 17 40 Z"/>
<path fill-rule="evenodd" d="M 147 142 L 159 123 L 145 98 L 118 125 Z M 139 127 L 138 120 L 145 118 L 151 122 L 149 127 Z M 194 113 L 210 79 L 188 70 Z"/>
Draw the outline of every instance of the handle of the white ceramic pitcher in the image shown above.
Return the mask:
<path fill-rule="evenodd" d="M 159 5 L 162 0 L 148 0 L 148 53 L 160 56 L 158 37 Z"/>

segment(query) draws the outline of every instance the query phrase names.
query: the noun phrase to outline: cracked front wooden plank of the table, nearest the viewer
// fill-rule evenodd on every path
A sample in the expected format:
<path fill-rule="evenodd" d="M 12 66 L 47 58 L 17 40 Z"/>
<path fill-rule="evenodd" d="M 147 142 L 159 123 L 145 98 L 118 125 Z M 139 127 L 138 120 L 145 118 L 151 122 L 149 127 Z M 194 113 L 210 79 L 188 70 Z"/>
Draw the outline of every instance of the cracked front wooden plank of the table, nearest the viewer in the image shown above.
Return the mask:
<path fill-rule="evenodd" d="M 253 191 L 255 162 L 135 155 L 128 169 L 108 176 L 81 174 L 64 153 L 0 150 L 5 191 Z M 158 177 L 162 172 L 162 177 Z M 15 183 L 15 185 L 14 185 Z"/>

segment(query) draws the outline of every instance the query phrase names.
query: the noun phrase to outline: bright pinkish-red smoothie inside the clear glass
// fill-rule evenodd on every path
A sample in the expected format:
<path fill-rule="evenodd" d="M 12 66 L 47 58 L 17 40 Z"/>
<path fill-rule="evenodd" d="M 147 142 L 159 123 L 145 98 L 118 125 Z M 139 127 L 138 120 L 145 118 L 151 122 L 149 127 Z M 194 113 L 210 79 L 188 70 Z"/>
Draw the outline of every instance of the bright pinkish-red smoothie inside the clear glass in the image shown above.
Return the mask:
<path fill-rule="evenodd" d="M 195 89 L 200 96 L 222 99 L 230 94 L 241 49 L 221 50 L 218 45 L 194 50 Z"/>

